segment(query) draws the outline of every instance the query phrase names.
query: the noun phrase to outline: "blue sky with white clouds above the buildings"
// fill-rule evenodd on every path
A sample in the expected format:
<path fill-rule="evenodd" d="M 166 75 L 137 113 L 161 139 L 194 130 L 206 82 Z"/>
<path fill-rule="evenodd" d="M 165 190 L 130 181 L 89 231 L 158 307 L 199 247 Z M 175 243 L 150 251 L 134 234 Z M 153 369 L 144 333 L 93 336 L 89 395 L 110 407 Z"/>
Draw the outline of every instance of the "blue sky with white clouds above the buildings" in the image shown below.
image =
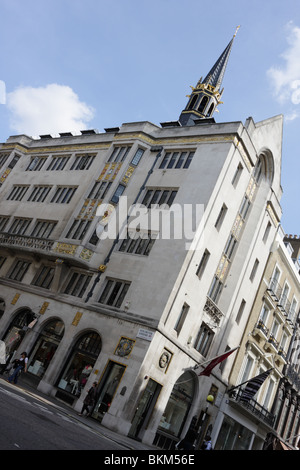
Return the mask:
<path fill-rule="evenodd" d="M 0 142 L 179 118 L 236 27 L 216 122 L 284 116 L 281 219 L 300 235 L 299 0 L 0 0 Z"/>

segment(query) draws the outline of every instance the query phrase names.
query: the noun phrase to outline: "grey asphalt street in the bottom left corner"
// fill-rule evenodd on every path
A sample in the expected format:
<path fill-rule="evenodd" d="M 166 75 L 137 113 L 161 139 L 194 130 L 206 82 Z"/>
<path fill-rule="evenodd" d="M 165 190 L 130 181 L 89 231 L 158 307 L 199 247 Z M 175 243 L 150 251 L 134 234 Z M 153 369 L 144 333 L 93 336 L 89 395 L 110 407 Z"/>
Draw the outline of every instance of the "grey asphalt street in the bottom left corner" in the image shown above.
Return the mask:
<path fill-rule="evenodd" d="M 0 381 L 1 450 L 124 450 L 75 412 Z"/>

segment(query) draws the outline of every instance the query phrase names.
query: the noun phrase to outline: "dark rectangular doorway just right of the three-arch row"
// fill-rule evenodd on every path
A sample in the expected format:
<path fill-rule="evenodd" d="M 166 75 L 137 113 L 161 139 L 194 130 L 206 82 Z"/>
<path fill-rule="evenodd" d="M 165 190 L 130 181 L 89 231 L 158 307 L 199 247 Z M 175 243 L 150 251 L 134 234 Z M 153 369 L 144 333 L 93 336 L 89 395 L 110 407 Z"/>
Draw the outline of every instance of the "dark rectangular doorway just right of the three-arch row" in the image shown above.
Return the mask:
<path fill-rule="evenodd" d="M 97 390 L 97 402 L 92 416 L 102 421 L 114 399 L 126 366 L 109 361 Z"/>

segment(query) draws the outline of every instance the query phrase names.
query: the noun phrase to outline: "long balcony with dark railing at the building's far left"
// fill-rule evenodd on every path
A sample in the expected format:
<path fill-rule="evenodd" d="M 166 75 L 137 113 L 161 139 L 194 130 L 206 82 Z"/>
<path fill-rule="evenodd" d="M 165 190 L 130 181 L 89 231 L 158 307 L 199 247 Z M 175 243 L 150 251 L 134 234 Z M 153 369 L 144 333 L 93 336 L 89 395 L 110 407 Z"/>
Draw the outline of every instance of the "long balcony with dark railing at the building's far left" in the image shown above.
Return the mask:
<path fill-rule="evenodd" d="M 50 251 L 54 240 L 47 238 L 28 237 L 13 233 L 0 232 L 0 245 L 9 248 L 20 248 L 25 250 Z"/>

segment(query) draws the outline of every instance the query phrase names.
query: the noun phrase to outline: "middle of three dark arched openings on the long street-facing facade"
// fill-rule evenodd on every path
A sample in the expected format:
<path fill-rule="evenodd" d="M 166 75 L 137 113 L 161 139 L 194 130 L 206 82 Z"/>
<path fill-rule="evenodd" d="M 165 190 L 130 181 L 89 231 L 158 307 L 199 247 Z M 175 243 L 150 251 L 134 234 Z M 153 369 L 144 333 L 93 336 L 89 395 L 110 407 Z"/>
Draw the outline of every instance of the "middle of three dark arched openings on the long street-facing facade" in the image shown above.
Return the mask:
<path fill-rule="evenodd" d="M 29 358 L 28 372 L 42 378 L 64 335 L 65 326 L 59 319 L 46 323 Z"/>

